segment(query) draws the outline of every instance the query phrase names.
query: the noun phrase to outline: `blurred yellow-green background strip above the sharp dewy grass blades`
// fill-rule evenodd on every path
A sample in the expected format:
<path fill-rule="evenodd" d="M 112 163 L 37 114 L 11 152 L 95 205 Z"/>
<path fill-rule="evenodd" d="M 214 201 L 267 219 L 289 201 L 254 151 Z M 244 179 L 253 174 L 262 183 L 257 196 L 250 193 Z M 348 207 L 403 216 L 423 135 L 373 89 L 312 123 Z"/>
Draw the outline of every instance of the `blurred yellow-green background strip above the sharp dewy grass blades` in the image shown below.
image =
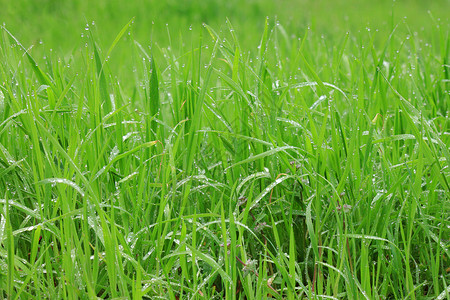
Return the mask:
<path fill-rule="evenodd" d="M 366 28 L 386 35 L 406 20 L 408 25 L 401 30 L 427 37 L 436 23 L 448 23 L 449 11 L 449 0 L 0 0 L 0 23 L 25 46 L 43 41 L 47 49 L 67 53 L 79 47 L 84 28 L 92 21 L 103 47 L 133 17 L 133 32 L 142 44 L 153 39 L 167 45 L 166 27 L 173 40 L 183 35 L 186 42 L 189 28 L 196 34 L 205 22 L 220 30 L 228 18 L 242 45 L 254 46 L 266 16 L 296 36 L 307 27 L 331 37 Z"/>

